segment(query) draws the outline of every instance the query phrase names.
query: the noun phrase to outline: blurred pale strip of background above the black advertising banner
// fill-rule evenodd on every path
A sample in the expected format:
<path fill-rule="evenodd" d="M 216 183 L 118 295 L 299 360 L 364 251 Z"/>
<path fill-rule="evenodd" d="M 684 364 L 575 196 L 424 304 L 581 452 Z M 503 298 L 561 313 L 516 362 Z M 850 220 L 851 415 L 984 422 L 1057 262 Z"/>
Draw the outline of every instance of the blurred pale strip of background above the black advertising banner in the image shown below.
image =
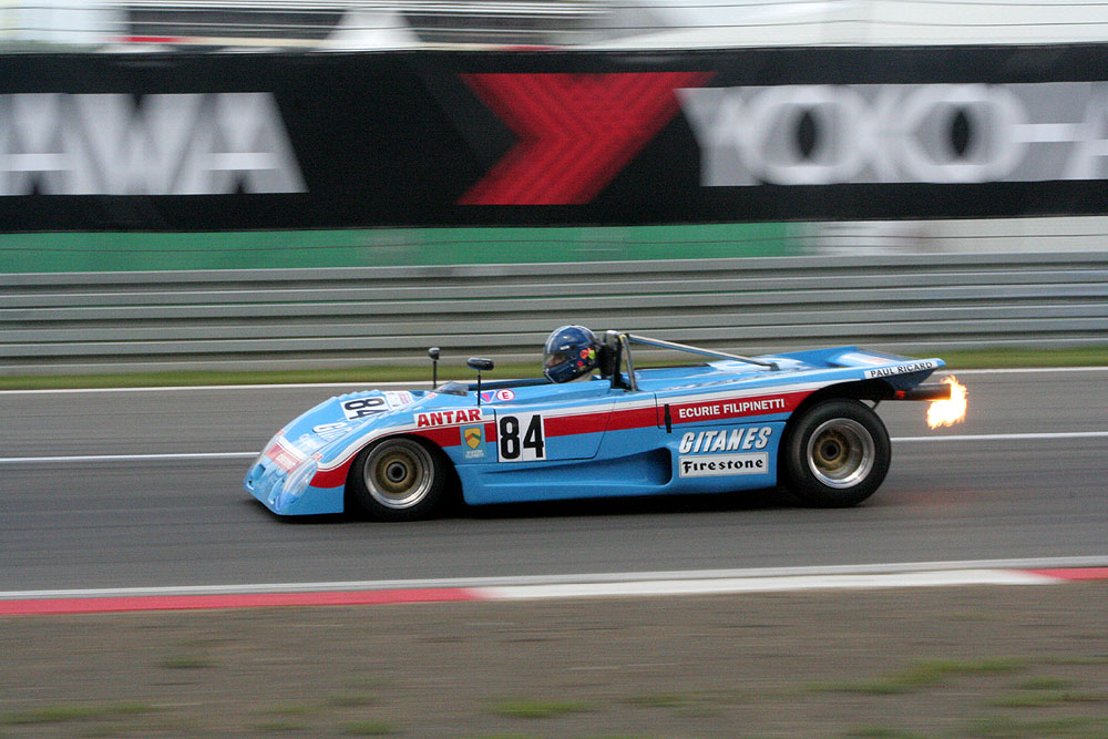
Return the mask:
<path fill-rule="evenodd" d="M 1075 43 L 1104 41 L 1108 24 L 1096 0 L 6 0 L 0 7 L 9 47 L 59 51 Z"/>

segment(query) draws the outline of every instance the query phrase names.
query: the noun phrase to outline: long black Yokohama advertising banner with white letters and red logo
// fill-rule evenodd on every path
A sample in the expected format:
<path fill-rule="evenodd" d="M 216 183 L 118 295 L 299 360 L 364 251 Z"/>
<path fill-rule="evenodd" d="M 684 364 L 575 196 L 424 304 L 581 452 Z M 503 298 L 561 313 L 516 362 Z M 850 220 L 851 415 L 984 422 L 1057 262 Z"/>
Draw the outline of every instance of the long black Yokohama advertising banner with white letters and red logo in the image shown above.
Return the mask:
<path fill-rule="evenodd" d="M 0 230 L 1108 213 L 1108 45 L 0 59 Z"/>

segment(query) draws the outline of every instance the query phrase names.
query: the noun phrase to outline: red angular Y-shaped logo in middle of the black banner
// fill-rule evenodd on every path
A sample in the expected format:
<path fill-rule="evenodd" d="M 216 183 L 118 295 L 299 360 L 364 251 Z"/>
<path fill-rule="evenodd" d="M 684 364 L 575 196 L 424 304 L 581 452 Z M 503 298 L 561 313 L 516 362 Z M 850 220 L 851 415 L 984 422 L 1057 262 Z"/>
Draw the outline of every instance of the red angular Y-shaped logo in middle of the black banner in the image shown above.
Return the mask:
<path fill-rule="evenodd" d="M 588 203 L 677 114 L 675 90 L 710 72 L 464 74 L 519 141 L 461 205 Z"/>

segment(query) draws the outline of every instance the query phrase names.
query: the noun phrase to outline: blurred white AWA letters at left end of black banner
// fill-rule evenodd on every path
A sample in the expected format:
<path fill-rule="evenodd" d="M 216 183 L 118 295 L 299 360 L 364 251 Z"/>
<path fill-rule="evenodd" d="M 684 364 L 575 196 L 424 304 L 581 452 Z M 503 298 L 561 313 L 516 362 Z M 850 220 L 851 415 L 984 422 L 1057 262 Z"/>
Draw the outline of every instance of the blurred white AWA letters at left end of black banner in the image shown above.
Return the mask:
<path fill-rule="evenodd" d="M 0 95 L 2 195 L 307 192 L 263 92 Z"/>

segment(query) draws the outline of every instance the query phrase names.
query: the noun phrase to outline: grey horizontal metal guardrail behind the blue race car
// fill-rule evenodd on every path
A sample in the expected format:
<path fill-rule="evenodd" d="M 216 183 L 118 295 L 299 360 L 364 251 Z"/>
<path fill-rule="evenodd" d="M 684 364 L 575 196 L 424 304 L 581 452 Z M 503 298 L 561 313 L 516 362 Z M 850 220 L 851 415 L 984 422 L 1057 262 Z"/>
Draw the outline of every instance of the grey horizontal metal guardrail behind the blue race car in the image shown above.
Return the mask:
<path fill-rule="evenodd" d="M 565 322 L 742 352 L 1108 343 L 1108 252 L 0 275 L 0 372 L 537 362 Z"/>

